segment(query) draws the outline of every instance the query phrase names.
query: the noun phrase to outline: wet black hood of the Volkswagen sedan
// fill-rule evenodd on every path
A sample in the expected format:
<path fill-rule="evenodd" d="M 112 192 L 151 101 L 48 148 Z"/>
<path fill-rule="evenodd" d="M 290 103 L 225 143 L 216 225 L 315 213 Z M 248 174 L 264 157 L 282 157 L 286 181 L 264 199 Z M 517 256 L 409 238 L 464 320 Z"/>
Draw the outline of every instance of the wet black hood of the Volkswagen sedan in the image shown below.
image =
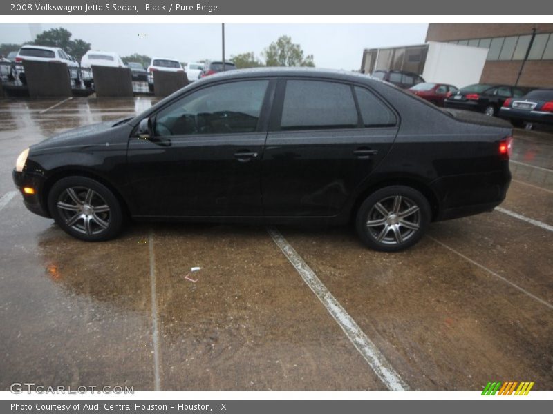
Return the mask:
<path fill-rule="evenodd" d="M 40 141 L 38 144 L 31 146 L 32 150 L 45 150 L 52 148 L 62 148 L 71 146 L 95 146 L 98 144 L 116 144 L 120 143 L 120 134 L 111 133 L 119 130 L 120 127 L 128 128 L 129 133 L 132 126 L 126 124 L 132 118 L 125 117 L 116 121 L 99 122 L 86 126 L 79 126 L 71 130 L 66 130 L 52 137 Z M 129 135 L 126 135 L 128 137 Z"/>

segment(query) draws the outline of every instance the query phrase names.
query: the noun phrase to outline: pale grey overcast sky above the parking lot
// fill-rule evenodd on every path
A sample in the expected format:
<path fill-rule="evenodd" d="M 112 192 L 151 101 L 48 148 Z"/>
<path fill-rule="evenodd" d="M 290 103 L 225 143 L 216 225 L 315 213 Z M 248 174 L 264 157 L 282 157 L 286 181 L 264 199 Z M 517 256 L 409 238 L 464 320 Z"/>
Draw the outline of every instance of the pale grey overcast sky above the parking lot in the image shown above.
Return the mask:
<path fill-rule="evenodd" d="M 95 50 L 121 56 L 174 57 L 191 62 L 221 59 L 221 25 L 183 24 L 0 24 L 0 43 L 21 43 L 41 30 L 64 27 L 73 38 Z M 424 43 L 427 24 L 226 24 L 227 59 L 242 52 L 261 52 L 286 34 L 313 55 L 319 68 L 359 69 L 364 48 Z"/>

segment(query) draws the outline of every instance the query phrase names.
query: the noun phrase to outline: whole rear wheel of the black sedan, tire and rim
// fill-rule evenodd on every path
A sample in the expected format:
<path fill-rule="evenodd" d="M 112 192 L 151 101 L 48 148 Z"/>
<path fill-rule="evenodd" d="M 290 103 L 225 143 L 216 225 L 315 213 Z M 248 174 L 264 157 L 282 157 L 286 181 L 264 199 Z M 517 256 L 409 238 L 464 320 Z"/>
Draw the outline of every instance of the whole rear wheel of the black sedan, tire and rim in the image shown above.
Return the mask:
<path fill-rule="evenodd" d="M 417 243 L 430 221 L 431 208 L 424 195 L 411 187 L 389 186 L 366 198 L 357 210 L 355 228 L 366 246 L 399 252 Z"/>

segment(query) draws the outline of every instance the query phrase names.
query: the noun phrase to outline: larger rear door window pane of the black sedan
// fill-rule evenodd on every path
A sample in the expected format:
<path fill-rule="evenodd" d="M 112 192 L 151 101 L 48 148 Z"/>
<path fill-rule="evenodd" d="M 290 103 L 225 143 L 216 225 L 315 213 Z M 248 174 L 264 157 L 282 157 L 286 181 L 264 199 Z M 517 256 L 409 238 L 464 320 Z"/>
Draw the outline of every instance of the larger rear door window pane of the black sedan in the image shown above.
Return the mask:
<path fill-rule="evenodd" d="M 283 102 L 281 130 L 357 128 L 351 87 L 329 81 L 289 80 Z"/>

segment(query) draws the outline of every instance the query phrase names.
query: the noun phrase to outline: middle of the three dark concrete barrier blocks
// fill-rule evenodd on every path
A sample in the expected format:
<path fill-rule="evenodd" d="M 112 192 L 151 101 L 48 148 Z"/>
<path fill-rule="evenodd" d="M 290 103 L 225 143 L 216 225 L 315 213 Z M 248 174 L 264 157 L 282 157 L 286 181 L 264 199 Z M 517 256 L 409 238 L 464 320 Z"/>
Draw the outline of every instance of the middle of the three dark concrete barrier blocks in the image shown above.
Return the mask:
<path fill-rule="evenodd" d="M 133 79 L 129 68 L 92 66 L 97 97 L 132 97 Z"/>

